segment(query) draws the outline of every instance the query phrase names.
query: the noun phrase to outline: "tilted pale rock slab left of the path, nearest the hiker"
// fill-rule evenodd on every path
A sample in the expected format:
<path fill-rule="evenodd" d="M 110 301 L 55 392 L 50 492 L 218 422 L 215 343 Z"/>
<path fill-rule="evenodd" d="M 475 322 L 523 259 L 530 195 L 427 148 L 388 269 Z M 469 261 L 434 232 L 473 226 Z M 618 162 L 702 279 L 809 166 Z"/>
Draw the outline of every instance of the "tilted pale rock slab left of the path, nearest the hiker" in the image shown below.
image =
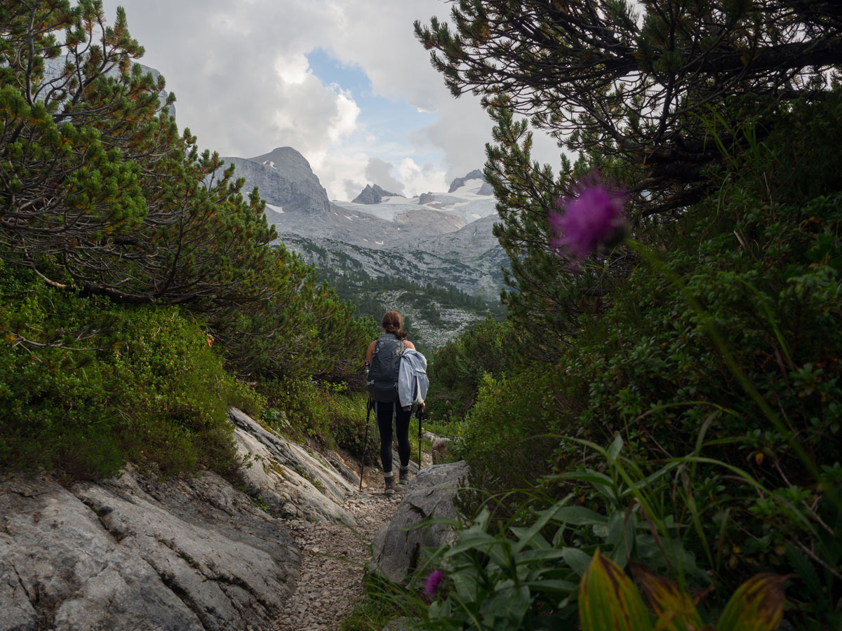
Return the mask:
<path fill-rule="evenodd" d="M 353 526 L 343 506 L 354 485 L 327 462 L 261 427 L 245 412 L 231 408 L 237 453 L 247 459 L 242 479 L 250 496 L 264 502 L 274 517 L 303 517 Z"/>

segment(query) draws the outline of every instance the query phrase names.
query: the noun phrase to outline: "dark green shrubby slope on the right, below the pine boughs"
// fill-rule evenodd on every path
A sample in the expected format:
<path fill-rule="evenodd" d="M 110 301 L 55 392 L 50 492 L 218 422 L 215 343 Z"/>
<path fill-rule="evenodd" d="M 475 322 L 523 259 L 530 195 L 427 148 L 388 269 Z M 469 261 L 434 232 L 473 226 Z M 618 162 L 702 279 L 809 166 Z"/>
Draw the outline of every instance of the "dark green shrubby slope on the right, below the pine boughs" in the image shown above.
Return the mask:
<path fill-rule="evenodd" d="M 818 156 L 839 142 L 840 97 L 828 93 L 820 105 L 794 107 L 749 155 L 711 173 L 713 194 L 677 220 L 642 225 L 638 238 L 659 252 L 653 261 L 630 249 L 583 262 L 588 271 L 559 295 L 569 304 L 576 293 L 587 297 L 595 279 L 605 286 L 613 277 L 597 308 L 571 318 L 560 303 L 546 326 L 532 321 L 526 329 L 515 315 L 509 326 L 518 343 L 504 346 L 506 361 L 490 366 L 478 388 L 470 370 L 457 382 L 477 400 L 456 445 L 474 484 L 500 494 L 491 503 L 512 520 L 484 527 L 490 538 L 477 543 L 477 554 L 488 554 L 488 542 L 509 540 L 507 528 L 536 523 L 543 506 L 568 498 L 605 520 L 614 542 L 621 539 L 611 528 L 632 528 L 639 512 L 633 528 L 671 542 L 685 563 L 664 565 L 663 554 L 651 554 L 642 540 L 613 559 L 623 567 L 659 561 L 688 589 L 712 584 L 706 612 L 721 611 L 752 575 L 772 572 L 793 576 L 791 622 L 839 622 L 842 164 Z M 520 295 L 521 304 L 533 300 Z M 482 365 L 486 346 L 474 345 L 461 363 Z M 439 361 L 436 355 L 434 368 Z M 616 461 L 594 465 L 596 448 L 619 437 Z M 606 497 L 619 481 L 625 490 Z M 539 499 L 524 504 L 526 496 Z M 476 510 L 477 499 L 466 506 Z M 594 541 L 591 529 L 600 528 L 569 523 L 550 545 L 557 563 L 575 570 L 565 550 L 582 550 L 583 559 L 597 544 L 605 550 L 610 541 Z M 550 542 L 553 531 L 542 532 Z M 564 578 L 570 588 L 552 599 L 530 588 L 533 619 L 575 619 L 580 575 Z M 510 602 L 505 585 L 499 594 L 482 592 L 493 598 L 484 612 L 492 602 Z M 447 598 L 456 607 L 468 597 L 457 590 Z M 490 613 L 483 619 L 488 628 L 497 620 Z M 431 623 L 441 628 L 441 618 Z"/>

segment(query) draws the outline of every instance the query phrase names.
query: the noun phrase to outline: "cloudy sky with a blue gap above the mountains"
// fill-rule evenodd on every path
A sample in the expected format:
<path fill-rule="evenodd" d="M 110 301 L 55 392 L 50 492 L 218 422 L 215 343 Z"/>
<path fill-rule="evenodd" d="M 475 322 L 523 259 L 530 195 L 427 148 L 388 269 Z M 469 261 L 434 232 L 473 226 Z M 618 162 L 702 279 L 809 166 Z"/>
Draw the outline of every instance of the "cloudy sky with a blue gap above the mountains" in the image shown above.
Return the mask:
<path fill-rule="evenodd" d="M 488 115 L 450 96 L 413 35 L 414 19 L 450 13 L 444 0 L 104 0 L 109 22 L 118 5 L 202 148 L 292 146 L 331 199 L 366 183 L 447 190 L 485 162 Z M 557 164 L 551 142 L 537 149 Z"/>

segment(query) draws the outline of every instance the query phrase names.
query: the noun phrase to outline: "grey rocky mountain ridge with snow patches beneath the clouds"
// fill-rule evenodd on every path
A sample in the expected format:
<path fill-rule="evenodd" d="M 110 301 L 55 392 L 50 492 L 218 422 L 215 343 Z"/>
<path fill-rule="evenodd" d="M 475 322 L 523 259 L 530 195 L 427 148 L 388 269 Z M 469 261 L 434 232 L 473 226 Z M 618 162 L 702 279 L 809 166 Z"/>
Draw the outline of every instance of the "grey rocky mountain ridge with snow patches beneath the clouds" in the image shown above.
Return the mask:
<path fill-rule="evenodd" d="M 291 147 L 224 160 L 246 179 L 244 190 L 258 188 L 278 241 L 317 267 L 350 265 L 497 299 L 508 257 L 492 234 L 494 199 L 479 170 L 456 178 L 447 193 L 406 198 L 371 183 L 344 202 L 328 199 Z"/>

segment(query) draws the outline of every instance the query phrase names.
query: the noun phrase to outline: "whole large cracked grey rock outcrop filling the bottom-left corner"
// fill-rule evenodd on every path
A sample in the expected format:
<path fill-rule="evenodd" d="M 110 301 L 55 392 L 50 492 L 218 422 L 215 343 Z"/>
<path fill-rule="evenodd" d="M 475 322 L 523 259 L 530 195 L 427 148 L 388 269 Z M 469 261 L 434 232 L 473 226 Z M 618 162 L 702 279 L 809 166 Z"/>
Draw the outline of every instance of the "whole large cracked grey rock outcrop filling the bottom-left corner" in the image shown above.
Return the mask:
<path fill-rule="evenodd" d="M 0 480 L 0 629 L 274 628 L 296 545 L 218 475 Z"/>

